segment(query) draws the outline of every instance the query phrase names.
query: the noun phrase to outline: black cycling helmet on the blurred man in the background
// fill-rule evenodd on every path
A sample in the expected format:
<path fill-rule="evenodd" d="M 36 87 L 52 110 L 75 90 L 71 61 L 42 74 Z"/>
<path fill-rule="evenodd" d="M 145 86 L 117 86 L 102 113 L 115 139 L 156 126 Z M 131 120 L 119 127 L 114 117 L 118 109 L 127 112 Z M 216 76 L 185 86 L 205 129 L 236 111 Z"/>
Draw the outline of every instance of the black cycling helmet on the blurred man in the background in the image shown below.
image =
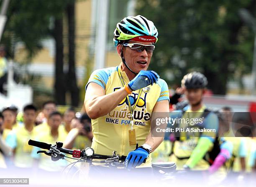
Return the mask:
<path fill-rule="evenodd" d="M 186 88 L 205 88 L 208 81 L 200 72 L 191 72 L 182 79 L 182 86 Z"/>

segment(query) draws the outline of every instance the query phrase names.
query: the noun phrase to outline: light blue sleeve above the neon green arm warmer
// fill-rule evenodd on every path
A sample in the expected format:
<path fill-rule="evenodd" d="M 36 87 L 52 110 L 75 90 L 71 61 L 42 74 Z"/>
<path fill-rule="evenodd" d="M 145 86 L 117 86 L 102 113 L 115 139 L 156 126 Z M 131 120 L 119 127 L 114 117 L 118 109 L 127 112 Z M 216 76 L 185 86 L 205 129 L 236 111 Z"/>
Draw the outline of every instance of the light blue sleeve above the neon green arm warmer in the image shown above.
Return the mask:
<path fill-rule="evenodd" d="M 219 120 L 218 116 L 213 112 L 210 112 L 203 121 L 205 129 L 209 129 L 210 132 L 203 132 L 201 137 L 207 137 L 211 142 L 215 141 L 215 137 L 218 135 Z"/>

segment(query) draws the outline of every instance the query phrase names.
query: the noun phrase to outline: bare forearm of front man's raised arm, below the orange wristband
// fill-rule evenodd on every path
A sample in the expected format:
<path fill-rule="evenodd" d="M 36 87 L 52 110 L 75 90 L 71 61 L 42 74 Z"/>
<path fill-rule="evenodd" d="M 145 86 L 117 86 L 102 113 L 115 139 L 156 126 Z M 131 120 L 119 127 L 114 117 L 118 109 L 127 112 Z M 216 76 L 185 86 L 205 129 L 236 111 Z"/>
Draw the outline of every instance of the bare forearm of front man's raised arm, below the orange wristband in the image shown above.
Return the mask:
<path fill-rule="evenodd" d="M 117 107 L 127 95 L 128 93 L 125 89 L 121 88 L 110 94 L 87 100 L 85 102 L 86 112 L 92 119 L 105 116 Z"/>

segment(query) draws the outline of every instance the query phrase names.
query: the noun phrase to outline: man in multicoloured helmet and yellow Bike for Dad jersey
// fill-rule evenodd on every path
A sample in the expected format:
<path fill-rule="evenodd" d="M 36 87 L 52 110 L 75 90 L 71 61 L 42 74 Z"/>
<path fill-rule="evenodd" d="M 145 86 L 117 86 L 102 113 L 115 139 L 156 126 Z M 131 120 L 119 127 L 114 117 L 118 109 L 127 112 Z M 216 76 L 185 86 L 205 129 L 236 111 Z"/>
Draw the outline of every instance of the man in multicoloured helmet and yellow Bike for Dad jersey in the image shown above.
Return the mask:
<path fill-rule="evenodd" d="M 141 15 L 125 17 L 114 31 L 119 66 L 95 70 L 86 85 L 85 108 L 92 118 L 95 153 L 128 155 L 128 170 L 151 167 L 150 152 L 163 137 L 151 134 L 152 112 L 169 112 L 169 91 L 156 72 L 147 70 L 157 42 L 154 23 Z M 138 148 L 136 148 L 138 144 Z"/>

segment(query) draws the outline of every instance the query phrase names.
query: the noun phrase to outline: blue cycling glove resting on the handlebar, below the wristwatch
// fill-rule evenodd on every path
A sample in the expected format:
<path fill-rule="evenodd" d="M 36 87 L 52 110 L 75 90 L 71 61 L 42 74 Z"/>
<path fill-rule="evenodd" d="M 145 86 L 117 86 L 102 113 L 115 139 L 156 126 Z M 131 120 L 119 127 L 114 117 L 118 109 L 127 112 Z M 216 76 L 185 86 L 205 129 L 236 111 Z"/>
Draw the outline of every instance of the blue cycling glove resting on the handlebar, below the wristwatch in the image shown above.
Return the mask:
<path fill-rule="evenodd" d="M 143 163 L 143 161 L 148 157 L 149 153 L 139 147 L 138 149 L 129 152 L 125 159 L 125 166 L 128 171 L 139 166 Z"/>

